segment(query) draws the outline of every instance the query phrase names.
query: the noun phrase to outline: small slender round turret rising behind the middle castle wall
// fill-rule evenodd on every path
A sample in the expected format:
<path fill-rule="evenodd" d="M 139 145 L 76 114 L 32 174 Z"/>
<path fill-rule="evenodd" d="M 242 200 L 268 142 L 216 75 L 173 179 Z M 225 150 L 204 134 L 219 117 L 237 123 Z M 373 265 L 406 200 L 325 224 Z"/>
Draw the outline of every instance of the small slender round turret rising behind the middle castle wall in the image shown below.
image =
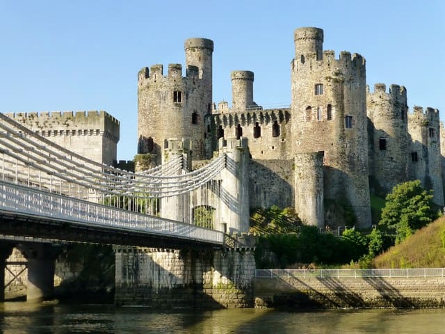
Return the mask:
<path fill-rule="evenodd" d="M 251 71 L 233 71 L 232 79 L 232 110 L 245 111 L 257 106 L 253 101 L 254 74 Z"/>

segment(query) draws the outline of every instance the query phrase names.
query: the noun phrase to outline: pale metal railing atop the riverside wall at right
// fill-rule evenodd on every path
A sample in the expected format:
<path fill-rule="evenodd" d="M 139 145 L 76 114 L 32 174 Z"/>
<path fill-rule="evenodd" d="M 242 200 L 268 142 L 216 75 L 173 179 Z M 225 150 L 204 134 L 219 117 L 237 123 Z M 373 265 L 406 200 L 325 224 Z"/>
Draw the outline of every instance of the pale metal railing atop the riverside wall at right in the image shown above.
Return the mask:
<path fill-rule="evenodd" d="M 445 277 L 445 268 L 418 269 L 257 269 L 255 278 Z"/>

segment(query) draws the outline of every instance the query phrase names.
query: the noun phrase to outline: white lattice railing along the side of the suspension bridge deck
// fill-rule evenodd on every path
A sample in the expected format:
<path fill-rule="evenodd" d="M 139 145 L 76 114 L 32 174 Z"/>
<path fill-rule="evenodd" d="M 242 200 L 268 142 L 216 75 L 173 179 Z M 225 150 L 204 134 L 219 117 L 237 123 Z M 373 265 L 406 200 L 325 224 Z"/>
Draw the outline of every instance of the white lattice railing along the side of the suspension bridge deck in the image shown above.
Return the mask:
<path fill-rule="evenodd" d="M 122 231 L 224 244 L 224 233 L 0 181 L 0 210 Z M 35 236 L 39 237 L 39 236 Z M 63 236 L 60 236 L 63 237 Z"/>

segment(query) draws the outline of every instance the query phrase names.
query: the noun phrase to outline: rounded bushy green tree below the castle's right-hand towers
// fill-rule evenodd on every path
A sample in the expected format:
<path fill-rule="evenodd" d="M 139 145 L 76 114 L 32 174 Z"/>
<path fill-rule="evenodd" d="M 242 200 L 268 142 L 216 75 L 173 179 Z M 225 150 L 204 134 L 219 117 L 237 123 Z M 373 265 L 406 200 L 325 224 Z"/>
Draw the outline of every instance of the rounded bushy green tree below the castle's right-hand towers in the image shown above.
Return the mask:
<path fill-rule="evenodd" d="M 386 200 L 379 225 L 395 231 L 396 243 L 437 218 L 432 190 L 423 189 L 420 180 L 394 186 Z"/>

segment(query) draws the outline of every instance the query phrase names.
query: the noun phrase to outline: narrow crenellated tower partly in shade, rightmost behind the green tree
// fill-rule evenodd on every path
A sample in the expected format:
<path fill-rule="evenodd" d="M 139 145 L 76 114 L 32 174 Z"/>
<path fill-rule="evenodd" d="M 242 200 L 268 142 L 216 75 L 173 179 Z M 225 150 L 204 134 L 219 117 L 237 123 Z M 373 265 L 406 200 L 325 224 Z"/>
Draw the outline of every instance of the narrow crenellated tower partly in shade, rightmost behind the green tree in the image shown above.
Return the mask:
<path fill-rule="evenodd" d="M 423 187 L 434 191 L 433 200 L 444 205 L 442 161 L 440 155 L 439 111 L 414 106 L 408 114 L 408 133 L 411 136 L 409 177 L 421 180 Z"/>

